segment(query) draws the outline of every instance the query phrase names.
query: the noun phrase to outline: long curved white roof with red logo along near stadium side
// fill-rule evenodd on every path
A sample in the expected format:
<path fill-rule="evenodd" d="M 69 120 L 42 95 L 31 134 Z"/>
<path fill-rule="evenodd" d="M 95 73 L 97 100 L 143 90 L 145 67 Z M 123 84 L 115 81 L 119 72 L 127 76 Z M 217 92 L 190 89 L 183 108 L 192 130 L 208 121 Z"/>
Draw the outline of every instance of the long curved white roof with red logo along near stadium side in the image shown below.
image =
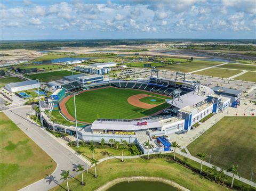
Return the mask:
<path fill-rule="evenodd" d="M 137 126 L 138 122 L 147 122 L 147 125 Z M 128 131 L 135 131 L 135 130 L 142 130 L 142 129 L 151 129 L 151 128 L 158 128 L 162 127 L 161 123 L 157 120 L 152 119 L 138 119 L 138 120 L 119 120 L 119 121 L 100 121 L 95 120 L 92 123 L 92 129 L 101 129 L 101 130 L 128 130 Z"/>

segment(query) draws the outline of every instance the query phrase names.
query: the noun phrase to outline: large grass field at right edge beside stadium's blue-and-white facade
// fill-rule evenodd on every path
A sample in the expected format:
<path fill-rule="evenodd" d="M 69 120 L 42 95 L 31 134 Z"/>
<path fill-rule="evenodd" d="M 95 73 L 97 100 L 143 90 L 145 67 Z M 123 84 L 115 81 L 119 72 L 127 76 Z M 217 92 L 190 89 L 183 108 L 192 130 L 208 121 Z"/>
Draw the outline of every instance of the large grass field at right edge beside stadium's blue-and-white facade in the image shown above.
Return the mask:
<path fill-rule="evenodd" d="M 252 170 L 256 172 L 256 118 L 224 117 L 188 146 L 194 156 L 205 152 L 211 163 L 228 169 L 238 164 L 238 171 L 250 179 Z M 253 177 L 256 181 L 256 176 Z"/>

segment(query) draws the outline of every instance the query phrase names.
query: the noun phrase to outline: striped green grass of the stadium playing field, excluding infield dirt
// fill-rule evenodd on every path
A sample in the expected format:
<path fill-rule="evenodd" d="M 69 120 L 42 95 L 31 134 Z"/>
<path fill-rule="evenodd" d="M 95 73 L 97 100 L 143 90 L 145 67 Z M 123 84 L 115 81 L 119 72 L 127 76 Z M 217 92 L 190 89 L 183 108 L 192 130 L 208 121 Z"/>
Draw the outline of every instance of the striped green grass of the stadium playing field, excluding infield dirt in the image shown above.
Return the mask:
<path fill-rule="evenodd" d="M 76 96 L 77 120 L 93 122 L 98 118 L 107 119 L 135 119 L 153 114 L 159 110 L 170 106 L 169 104 L 159 105 L 153 109 L 141 109 L 127 102 L 127 98 L 136 94 L 148 94 L 159 98 L 169 98 L 169 96 L 157 95 L 150 92 L 143 92 L 135 89 L 103 88 L 84 92 Z M 70 115 L 74 115 L 74 99 L 70 98 L 66 102 L 66 107 Z"/>

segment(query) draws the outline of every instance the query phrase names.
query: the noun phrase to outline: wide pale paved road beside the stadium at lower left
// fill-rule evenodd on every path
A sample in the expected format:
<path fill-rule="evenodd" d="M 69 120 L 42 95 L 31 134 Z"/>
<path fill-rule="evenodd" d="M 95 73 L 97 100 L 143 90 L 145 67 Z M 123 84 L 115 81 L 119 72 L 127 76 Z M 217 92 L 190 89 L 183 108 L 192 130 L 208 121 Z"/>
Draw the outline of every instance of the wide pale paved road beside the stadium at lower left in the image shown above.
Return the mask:
<path fill-rule="evenodd" d="M 62 170 L 70 170 L 70 175 L 76 176 L 78 173 L 73 170 L 77 164 L 82 164 L 85 169 L 87 168 L 85 162 L 49 136 L 47 131 L 39 128 L 26 118 L 27 113 L 30 113 L 29 106 L 5 110 L 4 113 L 57 163 L 57 168 L 52 175 L 20 190 L 49 190 L 62 182 L 62 180 L 60 181 Z"/>

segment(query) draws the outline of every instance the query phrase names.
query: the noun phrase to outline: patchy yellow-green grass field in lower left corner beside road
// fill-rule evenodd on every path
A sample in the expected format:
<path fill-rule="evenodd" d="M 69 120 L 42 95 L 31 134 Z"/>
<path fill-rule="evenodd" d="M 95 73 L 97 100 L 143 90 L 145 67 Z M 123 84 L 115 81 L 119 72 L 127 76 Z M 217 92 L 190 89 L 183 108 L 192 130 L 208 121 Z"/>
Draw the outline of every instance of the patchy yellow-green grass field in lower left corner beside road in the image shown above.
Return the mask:
<path fill-rule="evenodd" d="M 51 157 L 3 112 L 0 118 L 1 190 L 18 190 L 50 175 L 57 166 Z"/>

